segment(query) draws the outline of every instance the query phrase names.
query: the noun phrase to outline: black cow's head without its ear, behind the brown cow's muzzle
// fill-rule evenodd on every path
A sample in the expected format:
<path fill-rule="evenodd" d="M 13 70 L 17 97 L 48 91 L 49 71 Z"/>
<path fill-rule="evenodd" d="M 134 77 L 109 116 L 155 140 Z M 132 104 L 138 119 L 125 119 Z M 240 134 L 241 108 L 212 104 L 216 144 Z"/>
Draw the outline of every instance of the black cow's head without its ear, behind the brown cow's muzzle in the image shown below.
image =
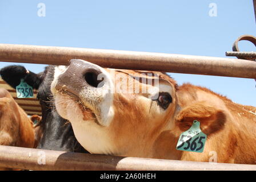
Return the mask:
<path fill-rule="evenodd" d="M 42 107 L 42 137 L 37 148 L 71 152 L 87 152 L 75 138 L 71 124 L 63 119 L 52 104 L 50 90 L 54 66 L 47 67 L 47 73 L 38 89 Z"/>

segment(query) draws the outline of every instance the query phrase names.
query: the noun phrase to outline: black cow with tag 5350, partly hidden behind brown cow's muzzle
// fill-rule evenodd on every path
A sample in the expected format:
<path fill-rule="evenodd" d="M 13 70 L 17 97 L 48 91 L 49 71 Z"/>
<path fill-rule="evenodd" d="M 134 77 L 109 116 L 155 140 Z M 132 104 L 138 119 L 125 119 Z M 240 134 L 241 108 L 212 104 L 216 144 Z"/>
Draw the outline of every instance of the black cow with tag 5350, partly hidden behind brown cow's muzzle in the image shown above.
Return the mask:
<path fill-rule="evenodd" d="M 42 138 L 37 148 L 70 152 L 87 151 L 78 143 L 70 122 L 63 119 L 55 110 L 50 86 L 54 72 L 64 66 L 49 65 L 44 72 L 35 74 L 20 65 L 11 65 L 0 70 L 3 80 L 13 88 L 19 85 L 21 78 L 38 90 L 37 98 L 42 107 Z"/>

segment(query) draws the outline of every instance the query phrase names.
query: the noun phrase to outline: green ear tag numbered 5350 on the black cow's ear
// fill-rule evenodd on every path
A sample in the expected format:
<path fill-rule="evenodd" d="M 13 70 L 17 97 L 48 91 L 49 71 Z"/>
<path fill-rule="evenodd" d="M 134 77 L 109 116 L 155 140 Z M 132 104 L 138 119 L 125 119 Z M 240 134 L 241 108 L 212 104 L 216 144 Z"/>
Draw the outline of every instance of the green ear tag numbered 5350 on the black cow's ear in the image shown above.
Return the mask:
<path fill-rule="evenodd" d="M 27 84 L 23 79 L 21 83 L 16 86 L 18 98 L 33 98 L 33 87 Z"/>

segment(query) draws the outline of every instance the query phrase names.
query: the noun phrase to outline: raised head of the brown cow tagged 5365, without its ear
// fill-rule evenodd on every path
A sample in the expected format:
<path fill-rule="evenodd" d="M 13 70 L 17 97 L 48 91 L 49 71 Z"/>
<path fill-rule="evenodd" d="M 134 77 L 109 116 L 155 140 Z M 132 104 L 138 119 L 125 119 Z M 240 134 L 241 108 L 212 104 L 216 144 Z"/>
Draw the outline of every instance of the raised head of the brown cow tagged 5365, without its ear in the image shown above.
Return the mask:
<path fill-rule="evenodd" d="M 175 89 L 161 72 L 104 69 L 83 60 L 56 69 L 51 84 L 58 113 L 87 151 L 124 156 L 143 156 L 173 127 Z"/>

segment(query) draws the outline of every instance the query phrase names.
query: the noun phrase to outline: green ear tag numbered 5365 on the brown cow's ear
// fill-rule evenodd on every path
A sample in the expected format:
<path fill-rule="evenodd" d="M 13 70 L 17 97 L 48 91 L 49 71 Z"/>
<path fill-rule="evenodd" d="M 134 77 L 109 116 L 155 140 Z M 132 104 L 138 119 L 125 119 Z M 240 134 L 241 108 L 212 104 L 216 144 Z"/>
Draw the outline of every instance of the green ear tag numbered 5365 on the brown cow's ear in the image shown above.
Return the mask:
<path fill-rule="evenodd" d="M 200 129 L 200 122 L 195 120 L 189 130 L 184 131 L 177 143 L 177 150 L 189 152 L 203 152 L 206 142 L 206 134 Z"/>

